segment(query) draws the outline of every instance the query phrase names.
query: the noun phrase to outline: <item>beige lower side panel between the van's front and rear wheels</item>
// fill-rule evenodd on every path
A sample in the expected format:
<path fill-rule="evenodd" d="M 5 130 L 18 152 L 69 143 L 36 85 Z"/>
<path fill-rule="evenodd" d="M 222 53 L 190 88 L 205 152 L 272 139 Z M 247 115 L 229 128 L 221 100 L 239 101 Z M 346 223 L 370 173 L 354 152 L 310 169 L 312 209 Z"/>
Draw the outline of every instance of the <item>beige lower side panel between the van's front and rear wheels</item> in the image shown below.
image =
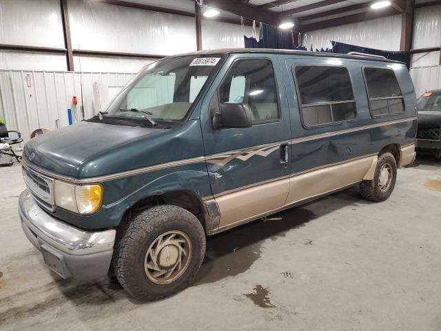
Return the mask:
<path fill-rule="evenodd" d="M 220 212 L 216 232 L 364 179 L 373 179 L 377 159 L 376 155 L 353 159 L 215 197 Z"/>

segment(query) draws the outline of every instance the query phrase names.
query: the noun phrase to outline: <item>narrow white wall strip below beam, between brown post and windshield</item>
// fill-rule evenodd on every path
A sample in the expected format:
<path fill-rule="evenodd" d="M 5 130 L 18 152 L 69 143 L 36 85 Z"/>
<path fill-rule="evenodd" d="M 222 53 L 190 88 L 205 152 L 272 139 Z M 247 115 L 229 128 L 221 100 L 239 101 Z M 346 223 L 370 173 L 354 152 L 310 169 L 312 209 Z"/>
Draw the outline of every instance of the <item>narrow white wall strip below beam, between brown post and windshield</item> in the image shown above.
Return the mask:
<path fill-rule="evenodd" d="M 139 72 L 143 66 L 153 61 L 156 59 L 75 55 L 74 67 L 79 72 Z"/>

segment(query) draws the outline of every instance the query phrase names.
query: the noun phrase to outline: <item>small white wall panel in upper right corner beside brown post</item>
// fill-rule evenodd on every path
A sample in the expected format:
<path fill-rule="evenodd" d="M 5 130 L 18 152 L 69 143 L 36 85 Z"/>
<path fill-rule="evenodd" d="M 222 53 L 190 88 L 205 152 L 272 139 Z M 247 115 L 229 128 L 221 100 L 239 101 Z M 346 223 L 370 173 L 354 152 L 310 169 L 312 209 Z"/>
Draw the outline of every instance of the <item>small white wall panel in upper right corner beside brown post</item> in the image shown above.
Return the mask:
<path fill-rule="evenodd" d="M 441 5 L 417 8 L 413 23 L 413 49 L 440 47 Z"/>

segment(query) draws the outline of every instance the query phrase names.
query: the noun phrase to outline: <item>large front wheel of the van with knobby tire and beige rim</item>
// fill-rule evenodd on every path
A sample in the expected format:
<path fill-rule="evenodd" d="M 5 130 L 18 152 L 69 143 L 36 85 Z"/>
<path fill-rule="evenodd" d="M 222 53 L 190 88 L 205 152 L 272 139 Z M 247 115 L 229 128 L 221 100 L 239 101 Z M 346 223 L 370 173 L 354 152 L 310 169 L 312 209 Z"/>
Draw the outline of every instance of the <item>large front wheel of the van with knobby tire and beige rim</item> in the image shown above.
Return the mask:
<path fill-rule="evenodd" d="M 205 256 L 201 222 L 176 205 L 137 215 L 114 253 L 114 271 L 132 297 L 152 301 L 186 288 Z"/>

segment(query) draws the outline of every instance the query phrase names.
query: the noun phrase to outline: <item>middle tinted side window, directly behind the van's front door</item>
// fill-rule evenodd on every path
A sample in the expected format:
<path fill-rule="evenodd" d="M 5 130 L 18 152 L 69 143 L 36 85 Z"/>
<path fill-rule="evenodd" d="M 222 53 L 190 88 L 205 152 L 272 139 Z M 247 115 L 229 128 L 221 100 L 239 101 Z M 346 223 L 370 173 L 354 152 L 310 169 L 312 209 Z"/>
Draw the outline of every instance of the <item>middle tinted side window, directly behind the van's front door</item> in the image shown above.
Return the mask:
<path fill-rule="evenodd" d="M 305 126 L 350 121 L 356 117 L 356 101 L 347 68 L 296 66 L 294 72 Z"/>

